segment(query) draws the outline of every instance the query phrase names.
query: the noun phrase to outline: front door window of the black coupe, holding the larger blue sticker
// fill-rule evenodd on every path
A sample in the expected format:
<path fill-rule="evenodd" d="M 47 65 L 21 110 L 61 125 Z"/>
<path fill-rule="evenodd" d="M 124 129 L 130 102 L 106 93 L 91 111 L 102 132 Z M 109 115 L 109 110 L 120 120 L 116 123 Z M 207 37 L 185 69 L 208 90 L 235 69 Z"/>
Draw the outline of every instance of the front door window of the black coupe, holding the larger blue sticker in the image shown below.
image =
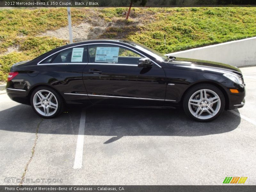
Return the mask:
<path fill-rule="evenodd" d="M 142 56 L 122 46 L 97 44 L 88 47 L 90 63 L 138 64 Z"/>

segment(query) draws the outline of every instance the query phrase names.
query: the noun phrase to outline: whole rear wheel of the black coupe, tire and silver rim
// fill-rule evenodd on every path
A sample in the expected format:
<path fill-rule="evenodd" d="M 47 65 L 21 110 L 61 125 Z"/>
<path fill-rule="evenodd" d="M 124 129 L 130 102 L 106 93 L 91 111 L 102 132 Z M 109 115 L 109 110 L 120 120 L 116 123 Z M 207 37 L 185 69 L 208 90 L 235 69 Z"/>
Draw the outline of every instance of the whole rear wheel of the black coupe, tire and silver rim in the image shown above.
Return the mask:
<path fill-rule="evenodd" d="M 36 88 L 31 94 L 30 103 L 36 114 L 44 118 L 59 115 L 63 108 L 61 96 L 50 87 Z"/>

